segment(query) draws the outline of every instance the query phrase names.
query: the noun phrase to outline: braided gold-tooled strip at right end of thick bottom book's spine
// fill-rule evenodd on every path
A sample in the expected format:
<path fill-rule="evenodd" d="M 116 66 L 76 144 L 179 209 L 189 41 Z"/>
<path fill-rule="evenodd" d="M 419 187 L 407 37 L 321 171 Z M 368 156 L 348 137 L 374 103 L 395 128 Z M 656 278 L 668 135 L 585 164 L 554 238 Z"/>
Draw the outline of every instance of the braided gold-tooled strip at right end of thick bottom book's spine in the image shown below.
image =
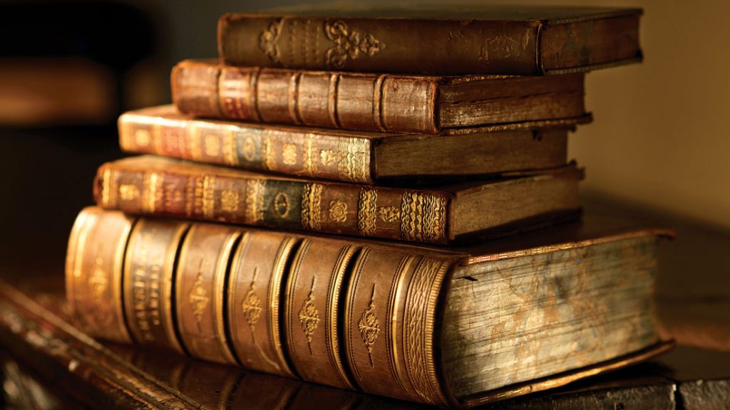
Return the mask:
<path fill-rule="evenodd" d="M 433 355 L 436 303 L 448 263 L 424 258 L 416 267 L 408 286 L 403 317 L 406 371 L 420 398 L 437 405 L 446 404 L 439 387 Z"/>

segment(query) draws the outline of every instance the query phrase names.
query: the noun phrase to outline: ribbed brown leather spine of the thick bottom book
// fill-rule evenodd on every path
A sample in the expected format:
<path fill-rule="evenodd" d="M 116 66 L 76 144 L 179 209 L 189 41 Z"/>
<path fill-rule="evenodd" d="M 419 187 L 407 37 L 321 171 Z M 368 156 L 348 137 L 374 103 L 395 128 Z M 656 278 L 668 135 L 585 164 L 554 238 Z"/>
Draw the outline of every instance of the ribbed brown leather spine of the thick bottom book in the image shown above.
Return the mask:
<path fill-rule="evenodd" d="M 131 221 L 120 212 L 91 208 L 82 212 L 82 219 L 90 214 L 102 222 L 96 226 L 105 233 L 89 236 L 86 247 L 126 255 L 123 269 L 95 273 L 97 282 L 118 287 L 126 283 L 118 272 L 150 266 L 141 244 L 155 226 L 163 231 L 150 240 L 160 250 L 172 250 L 166 256 L 177 264 L 170 278 L 173 292 L 164 293 L 167 300 L 159 303 L 172 306 L 172 326 L 183 347 L 168 343 L 167 349 L 334 387 L 441 406 L 451 403 L 438 373 L 437 340 L 453 260 L 226 225 L 139 218 L 131 229 Z M 84 261 L 97 258 L 81 256 Z M 75 277 L 73 270 L 66 272 L 67 280 Z M 77 293 L 74 300 L 90 307 L 115 303 L 119 325 L 139 322 L 134 315 L 121 314 L 130 303 L 137 304 L 134 298 L 116 294 L 102 302 L 90 293 Z M 78 315 L 84 319 L 82 329 L 92 336 L 133 340 L 120 339 L 94 323 L 94 309 Z M 136 336 L 134 340 L 151 344 Z"/>

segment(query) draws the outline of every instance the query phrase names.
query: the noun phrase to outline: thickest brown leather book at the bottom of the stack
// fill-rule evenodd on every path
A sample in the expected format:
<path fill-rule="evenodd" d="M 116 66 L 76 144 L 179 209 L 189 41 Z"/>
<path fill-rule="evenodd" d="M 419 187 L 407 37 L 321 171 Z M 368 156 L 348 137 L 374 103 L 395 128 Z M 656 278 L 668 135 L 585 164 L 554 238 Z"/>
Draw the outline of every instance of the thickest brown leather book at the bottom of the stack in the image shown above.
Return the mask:
<path fill-rule="evenodd" d="M 651 306 L 663 236 L 672 231 L 588 217 L 444 248 L 90 207 L 69 240 L 66 292 L 93 336 L 476 406 L 665 350 Z M 166 317 L 177 331 L 167 332 Z"/>

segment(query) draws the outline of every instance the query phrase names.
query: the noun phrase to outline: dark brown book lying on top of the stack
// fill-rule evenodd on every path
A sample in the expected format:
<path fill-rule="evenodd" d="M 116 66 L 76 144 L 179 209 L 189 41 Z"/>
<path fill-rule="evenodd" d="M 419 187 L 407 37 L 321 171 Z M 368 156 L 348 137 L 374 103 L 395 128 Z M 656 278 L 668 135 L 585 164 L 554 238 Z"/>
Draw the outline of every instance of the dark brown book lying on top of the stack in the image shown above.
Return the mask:
<path fill-rule="evenodd" d="M 223 15 L 232 66 L 539 75 L 640 61 L 641 9 L 381 3 Z"/>

